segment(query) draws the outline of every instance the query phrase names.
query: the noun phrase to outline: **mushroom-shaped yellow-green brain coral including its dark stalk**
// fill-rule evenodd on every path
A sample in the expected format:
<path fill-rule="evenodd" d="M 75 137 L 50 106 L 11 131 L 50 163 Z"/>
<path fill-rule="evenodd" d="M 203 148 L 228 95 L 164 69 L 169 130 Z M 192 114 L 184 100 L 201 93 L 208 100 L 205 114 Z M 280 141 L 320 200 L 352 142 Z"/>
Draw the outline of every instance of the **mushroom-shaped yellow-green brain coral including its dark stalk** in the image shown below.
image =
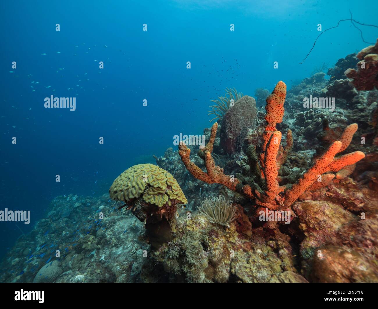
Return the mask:
<path fill-rule="evenodd" d="M 113 200 L 124 201 L 124 206 L 145 223 L 153 249 L 171 240 L 169 221 L 177 204 L 187 203 L 175 178 L 153 164 L 138 164 L 124 171 L 114 180 L 109 194 Z"/>

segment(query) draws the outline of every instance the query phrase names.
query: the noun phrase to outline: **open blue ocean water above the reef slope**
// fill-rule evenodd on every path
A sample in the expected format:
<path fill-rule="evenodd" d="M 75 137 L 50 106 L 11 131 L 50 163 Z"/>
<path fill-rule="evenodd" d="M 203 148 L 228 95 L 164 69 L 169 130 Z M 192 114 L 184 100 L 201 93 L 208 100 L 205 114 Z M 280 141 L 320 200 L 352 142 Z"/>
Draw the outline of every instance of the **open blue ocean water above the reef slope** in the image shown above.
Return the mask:
<path fill-rule="evenodd" d="M 2 2 L 0 203 L 30 210 L 31 222 L 0 222 L 0 254 L 57 195 L 100 196 L 125 169 L 174 147 L 174 135 L 202 134 L 210 100 L 226 87 L 253 96 L 283 80 L 290 89 L 364 48 L 345 21 L 299 64 L 319 23 L 336 26 L 351 11 L 377 24 L 377 9 L 344 0 Z M 359 28 L 375 41 L 376 28 Z M 75 97 L 76 110 L 45 108 L 51 95 Z"/>

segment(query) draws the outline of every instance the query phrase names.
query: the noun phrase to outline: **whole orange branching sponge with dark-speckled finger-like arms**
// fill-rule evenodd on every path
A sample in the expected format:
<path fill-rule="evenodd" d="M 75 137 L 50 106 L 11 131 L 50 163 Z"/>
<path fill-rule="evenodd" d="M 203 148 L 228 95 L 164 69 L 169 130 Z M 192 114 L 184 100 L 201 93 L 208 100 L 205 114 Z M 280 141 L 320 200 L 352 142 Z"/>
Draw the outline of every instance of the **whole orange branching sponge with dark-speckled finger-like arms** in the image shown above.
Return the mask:
<path fill-rule="evenodd" d="M 198 152 L 198 155 L 204 160 L 206 173 L 190 160 L 190 149 L 185 145 L 179 145 L 179 154 L 187 170 L 201 181 L 209 184 L 223 184 L 232 191 L 253 198 L 257 205 L 273 210 L 290 208 L 305 191 L 318 190 L 330 184 L 335 176 L 339 179 L 345 174 L 350 174 L 353 171 L 353 164 L 364 158 L 365 154 L 361 151 L 355 151 L 341 157 L 336 158 L 335 156 L 349 146 L 353 134 L 358 129 L 356 123 L 345 128 L 339 140 L 332 143 L 328 150 L 304 173 L 298 183 L 284 192 L 285 187 L 279 186 L 277 181 L 278 171 L 281 164 L 287 160 L 288 153 L 293 148 L 293 137 L 291 130 L 288 130 L 286 146 L 283 148 L 280 145 L 282 134 L 280 131 L 277 131 L 276 125 L 282 122 L 285 97 L 286 85 L 282 81 L 279 81 L 272 94 L 266 98 L 266 125 L 263 132 L 263 151 L 257 156 L 254 145 L 249 146 L 246 151 L 249 161 L 249 169 L 246 169 L 248 175 L 239 173 L 237 177 L 225 175 L 222 168 L 215 166 L 211 152 L 217 132 L 217 123 L 214 123 L 211 128 L 208 144 Z M 336 173 L 336 175 L 332 172 Z"/>

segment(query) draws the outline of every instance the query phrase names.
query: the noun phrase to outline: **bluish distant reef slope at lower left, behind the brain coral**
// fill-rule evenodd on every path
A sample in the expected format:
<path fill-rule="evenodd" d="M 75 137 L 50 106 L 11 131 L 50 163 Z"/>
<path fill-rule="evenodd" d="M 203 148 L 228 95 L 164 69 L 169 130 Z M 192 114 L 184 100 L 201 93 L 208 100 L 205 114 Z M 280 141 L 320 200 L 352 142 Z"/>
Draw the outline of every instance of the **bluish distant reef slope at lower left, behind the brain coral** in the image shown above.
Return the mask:
<path fill-rule="evenodd" d="M 131 212 L 118 210 L 122 204 L 110 200 L 109 194 L 54 198 L 27 238 L 20 237 L 1 261 L 0 281 L 143 281 L 147 236 L 143 223 Z M 70 209 L 68 216 L 64 209 Z M 39 276 L 39 271 L 45 274 Z M 57 277 L 45 278 L 48 272 Z"/>

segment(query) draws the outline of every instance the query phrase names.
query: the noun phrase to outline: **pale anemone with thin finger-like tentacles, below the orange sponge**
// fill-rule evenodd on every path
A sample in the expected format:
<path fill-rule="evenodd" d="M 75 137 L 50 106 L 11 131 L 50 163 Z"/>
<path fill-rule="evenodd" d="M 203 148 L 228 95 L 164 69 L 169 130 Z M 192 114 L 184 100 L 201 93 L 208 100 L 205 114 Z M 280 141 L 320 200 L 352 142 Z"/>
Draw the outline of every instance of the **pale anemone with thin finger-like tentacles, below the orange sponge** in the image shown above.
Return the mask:
<path fill-rule="evenodd" d="M 198 211 L 211 223 L 228 225 L 235 220 L 236 207 L 223 197 L 205 198 Z"/>

